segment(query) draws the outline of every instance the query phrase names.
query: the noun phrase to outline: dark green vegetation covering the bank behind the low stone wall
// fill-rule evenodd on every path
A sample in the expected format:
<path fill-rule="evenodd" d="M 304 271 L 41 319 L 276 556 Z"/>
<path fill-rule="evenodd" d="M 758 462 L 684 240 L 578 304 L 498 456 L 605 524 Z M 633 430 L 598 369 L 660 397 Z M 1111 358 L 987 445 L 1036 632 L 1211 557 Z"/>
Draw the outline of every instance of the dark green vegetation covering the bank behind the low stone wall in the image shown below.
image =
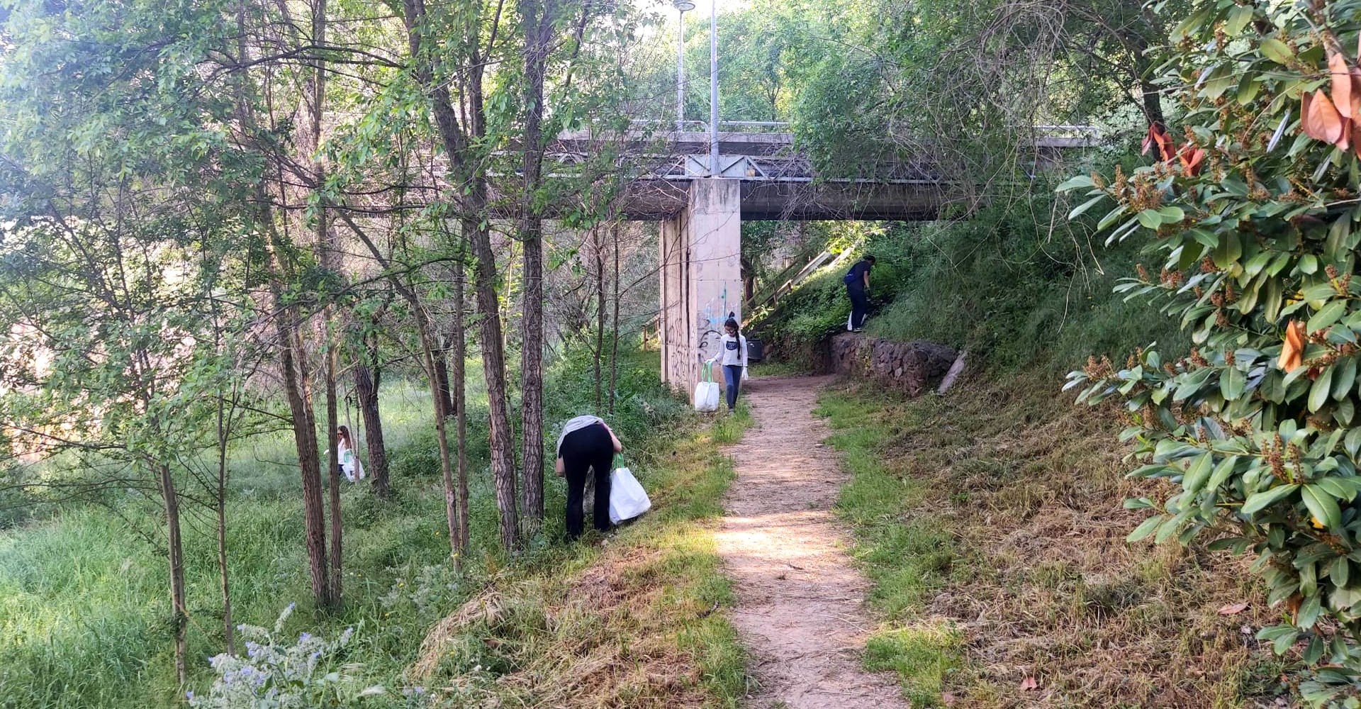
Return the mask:
<path fill-rule="evenodd" d="M 1176 321 L 1112 291 L 1135 275 L 1138 250 L 1101 249 L 1090 223 L 1051 225 L 1068 208 L 1037 185 L 1023 204 L 966 220 L 864 225 L 853 253 L 876 259 L 867 332 L 966 348 L 1003 370 L 1059 374 L 1089 355 L 1123 357 L 1153 342 L 1187 351 Z M 851 302 L 841 276 L 852 261 L 821 269 L 759 316 L 777 354 L 798 359 L 793 352 L 845 329 Z"/>

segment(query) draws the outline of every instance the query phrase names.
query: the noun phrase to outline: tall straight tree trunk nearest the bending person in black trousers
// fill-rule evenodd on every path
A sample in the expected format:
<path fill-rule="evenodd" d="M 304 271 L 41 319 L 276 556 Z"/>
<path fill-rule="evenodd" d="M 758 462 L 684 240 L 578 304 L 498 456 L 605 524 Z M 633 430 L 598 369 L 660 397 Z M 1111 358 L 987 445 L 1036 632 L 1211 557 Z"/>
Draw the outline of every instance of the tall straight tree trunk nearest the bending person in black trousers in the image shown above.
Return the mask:
<path fill-rule="evenodd" d="M 534 535 L 543 521 L 543 216 L 535 196 L 543 186 L 543 75 L 553 37 L 554 0 L 520 0 L 524 23 L 524 189 L 520 201 L 520 241 L 524 244 L 524 313 L 520 351 L 520 431 L 524 484 L 524 527 Z"/>

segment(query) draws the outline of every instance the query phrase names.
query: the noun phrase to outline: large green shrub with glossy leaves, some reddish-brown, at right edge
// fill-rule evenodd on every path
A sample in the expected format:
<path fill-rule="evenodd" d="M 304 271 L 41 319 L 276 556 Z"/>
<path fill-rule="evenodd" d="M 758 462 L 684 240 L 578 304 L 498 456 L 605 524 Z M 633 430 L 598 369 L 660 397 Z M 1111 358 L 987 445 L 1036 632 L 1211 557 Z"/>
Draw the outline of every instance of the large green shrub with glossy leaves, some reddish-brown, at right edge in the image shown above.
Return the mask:
<path fill-rule="evenodd" d="M 1234 38 L 1249 26 L 1271 31 Z M 1124 400 L 1123 438 L 1147 463 L 1131 475 L 1170 483 L 1161 499 L 1127 502 L 1155 512 L 1130 539 L 1210 535 L 1211 548 L 1251 548 L 1288 619 L 1258 637 L 1278 653 L 1300 642 L 1305 664 L 1322 663 L 1298 686 L 1315 706 L 1361 705 L 1361 159 L 1341 129 L 1311 128 L 1328 137 L 1316 140 L 1297 120 L 1301 93 L 1330 88 L 1328 57 L 1350 93 L 1356 60 L 1337 52 L 1357 46 L 1358 30 L 1356 0 L 1203 5 L 1177 30 L 1160 80 L 1185 87 L 1176 140 L 1130 177 L 1063 185 L 1087 191 L 1074 212 L 1115 203 L 1101 219 L 1111 241 L 1161 254 L 1161 274 L 1117 290 L 1199 346 L 1188 358 L 1139 350 L 1119 369 L 1090 361 L 1070 376 L 1079 400 Z M 1345 98 L 1337 84 L 1331 95 Z M 1313 94 L 1304 122 L 1327 101 Z"/>

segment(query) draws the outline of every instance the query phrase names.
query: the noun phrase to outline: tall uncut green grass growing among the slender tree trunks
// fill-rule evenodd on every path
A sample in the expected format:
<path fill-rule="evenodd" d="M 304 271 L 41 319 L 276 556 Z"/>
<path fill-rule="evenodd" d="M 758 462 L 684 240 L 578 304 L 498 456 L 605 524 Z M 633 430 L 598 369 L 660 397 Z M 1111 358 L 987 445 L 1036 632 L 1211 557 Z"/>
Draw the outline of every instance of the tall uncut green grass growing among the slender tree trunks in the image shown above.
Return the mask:
<path fill-rule="evenodd" d="M 728 472 L 715 459 L 663 455 L 676 435 L 690 430 L 689 425 L 678 426 L 689 421 L 682 418 L 687 407 L 657 381 L 655 354 L 621 346 L 621 355 L 612 421 L 632 449 L 630 461 L 636 469 L 657 476 L 644 478 L 649 489 L 679 486 L 680 482 L 672 480 L 680 479 L 695 487 L 660 495 L 661 501 L 670 497 L 672 505 L 686 510 L 680 513 L 685 518 L 712 514 Z M 580 411 L 583 393 L 593 389 L 589 366 L 578 359 L 573 352 L 555 363 L 548 376 L 553 423 L 547 437 L 553 442 L 554 425 Z M 476 363 L 471 365 L 470 372 L 478 372 Z M 233 450 L 227 563 L 235 622 L 269 626 L 284 606 L 297 603 L 287 633 L 332 637 L 352 627 L 354 640 L 343 660 L 357 664 L 357 672 L 366 680 L 401 687 L 410 683 L 407 668 L 418 660 L 431 622 L 491 584 L 561 570 L 568 559 L 577 559 L 568 567 L 580 569 L 593 557 L 581 546 L 568 547 L 561 542 L 565 489 L 551 475 L 544 529 L 513 557 L 497 548 L 483 395 L 470 397 L 468 416 L 474 548 L 455 574 L 448 565 L 429 392 L 412 382 L 388 382 L 381 406 L 396 495 L 380 501 L 366 484 L 346 484 L 342 490 L 343 607 L 327 612 L 310 603 L 298 502 L 301 483 L 291 435 L 260 437 Z M 173 621 L 166 601 L 165 559 L 139 538 L 148 533 L 159 540 L 159 525 L 152 505 L 129 497 L 114 509 L 75 506 L 0 532 L 0 706 L 132 709 L 182 701 L 184 689 L 174 680 L 171 663 Z M 185 514 L 189 689 L 200 691 L 211 679 L 207 657 L 223 648 L 212 533 L 211 516 L 201 508 Z M 706 553 L 700 548 L 690 554 Z M 705 603 L 723 597 L 715 569 L 709 562 L 708 570 L 686 572 L 698 588 L 697 597 Z M 691 638 L 693 644 L 717 642 L 721 652 L 734 652 L 731 644 L 720 642 L 721 629 L 706 625 L 695 633 L 700 634 Z M 720 685 L 734 682 L 731 663 L 724 667 L 716 670 L 716 676 L 727 678 Z M 736 682 L 740 685 L 740 678 Z"/>

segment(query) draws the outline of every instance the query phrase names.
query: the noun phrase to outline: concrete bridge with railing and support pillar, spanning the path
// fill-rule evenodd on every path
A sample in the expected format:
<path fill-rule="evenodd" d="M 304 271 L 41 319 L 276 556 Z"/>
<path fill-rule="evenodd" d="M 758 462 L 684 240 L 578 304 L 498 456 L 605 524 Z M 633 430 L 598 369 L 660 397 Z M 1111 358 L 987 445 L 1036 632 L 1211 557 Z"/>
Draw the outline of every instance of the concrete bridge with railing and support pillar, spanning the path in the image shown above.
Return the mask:
<path fill-rule="evenodd" d="M 788 124 L 720 122 L 716 133 L 648 128 L 636 121 L 623 136 L 563 133 L 546 158 L 585 163 L 608 143 L 630 176 L 623 216 L 661 223 L 661 377 L 686 391 L 717 354 L 728 314 L 742 321 L 743 220 L 932 220 L 953 188 L 925 159 L 819 176 Z M 1034 169 L 1094 137 L 1087 127 L 1037 128 Z"/>

